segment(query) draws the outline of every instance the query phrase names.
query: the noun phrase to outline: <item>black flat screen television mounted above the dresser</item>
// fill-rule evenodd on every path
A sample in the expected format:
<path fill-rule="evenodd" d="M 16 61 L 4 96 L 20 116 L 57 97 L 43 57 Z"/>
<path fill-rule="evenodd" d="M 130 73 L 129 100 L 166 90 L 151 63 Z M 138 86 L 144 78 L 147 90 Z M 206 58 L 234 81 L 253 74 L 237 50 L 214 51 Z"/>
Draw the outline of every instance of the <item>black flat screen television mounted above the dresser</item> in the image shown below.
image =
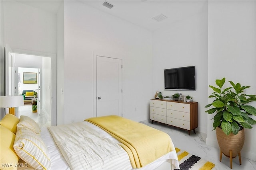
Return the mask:
<path fill-rule="evenodd" d="M 164 70 L 165 90 L 196 90 L 196 66 Z"/>

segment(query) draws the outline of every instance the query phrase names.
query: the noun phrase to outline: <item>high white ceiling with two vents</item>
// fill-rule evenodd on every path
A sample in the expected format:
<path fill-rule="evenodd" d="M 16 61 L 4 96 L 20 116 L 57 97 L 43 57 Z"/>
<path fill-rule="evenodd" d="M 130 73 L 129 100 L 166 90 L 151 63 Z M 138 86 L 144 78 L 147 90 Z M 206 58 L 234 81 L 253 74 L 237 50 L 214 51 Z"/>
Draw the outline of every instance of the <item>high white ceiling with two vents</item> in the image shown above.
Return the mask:
<path fill-rule="evenodd" d="M 62 0 L 21 0 L 19 2 L 56 13 Z M 104 0 L 81 0 L 81 2 L 150 31 L 208 9 L 207 0 L 108 0 L 107 2 L 114 5 L 111 9 L 102 5 Z M 160 14 L 167 18 L 162 21 L 152 19 Z"/>

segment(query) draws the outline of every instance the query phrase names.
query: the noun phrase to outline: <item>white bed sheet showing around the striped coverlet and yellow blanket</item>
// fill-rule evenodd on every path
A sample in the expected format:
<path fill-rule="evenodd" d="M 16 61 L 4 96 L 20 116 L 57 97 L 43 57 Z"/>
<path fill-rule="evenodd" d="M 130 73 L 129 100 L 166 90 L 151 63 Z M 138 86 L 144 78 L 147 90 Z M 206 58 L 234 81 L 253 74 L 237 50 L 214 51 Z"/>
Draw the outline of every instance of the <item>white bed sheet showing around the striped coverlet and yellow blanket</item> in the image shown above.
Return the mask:
<path fill-rule="evenodd" d="M 98 131 L 99 133 L 101 133 L 105 137 L 109 138 L 110 140 L 112 140 L 116 143 L 119 143 L 118 140 L 116 140 L 114 137 L 109 135 L 106 131 L 100 129 L 100 127 L 93 125 L 92 123 L 89 123 L 87 121 L 86 121 L 86 125 L 92 127 L 94 130 Z M 47 149 L 48 149 L 48 152 L 50 155 L 51 164 L 52 164 L 50 169 L 51 170 L 70 170 L 68 163 L 62 156 L 60 150 L 58 149 L 58 146 L 56 145 L 56 143 L 54 142 L 54 139 L 52 138 L 52 135 L 48 131 L 48 128 L 41 129 L 41 137 L 42 137 L 42 140 L 44 141 L 45 145 L 47 146 Z M 172 143 L 172 145 L 173 145 L 173 143 Z M 174 148 L 174 146 L 173 146 L 173 148 Z M 156 169 L 158 166 L 160 166 L 163 162 L 165 162 L 168 159 L 172 159 L 172 169 L 179 167 L 178 157 L 177 157 L 176 151 L 174 150 L 174 151 L 169 152 L 168 154 L 162 156 L 161 158 L 158 158 L 157 160 L 148 164 L 147 166 L 139 168 L 138 170 L 140 170 L 140 169 L 141 170 Z M 23 168 L 19 168 L 19 169 L 23 169 Z"/>

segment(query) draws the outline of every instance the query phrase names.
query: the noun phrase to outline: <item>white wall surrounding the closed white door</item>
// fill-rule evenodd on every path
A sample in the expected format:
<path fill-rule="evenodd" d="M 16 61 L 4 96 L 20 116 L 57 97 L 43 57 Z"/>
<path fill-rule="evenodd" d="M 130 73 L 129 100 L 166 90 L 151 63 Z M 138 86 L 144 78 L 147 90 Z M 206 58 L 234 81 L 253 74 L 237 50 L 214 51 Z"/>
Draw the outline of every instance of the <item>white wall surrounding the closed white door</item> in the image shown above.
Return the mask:
<path fill-rule="evenodd" d="M 152 34 L 81 2 L 64 2 L 64 123 L 93 113 L 93 53 L 122 59 L 123 116 L 148 119 Z"/>

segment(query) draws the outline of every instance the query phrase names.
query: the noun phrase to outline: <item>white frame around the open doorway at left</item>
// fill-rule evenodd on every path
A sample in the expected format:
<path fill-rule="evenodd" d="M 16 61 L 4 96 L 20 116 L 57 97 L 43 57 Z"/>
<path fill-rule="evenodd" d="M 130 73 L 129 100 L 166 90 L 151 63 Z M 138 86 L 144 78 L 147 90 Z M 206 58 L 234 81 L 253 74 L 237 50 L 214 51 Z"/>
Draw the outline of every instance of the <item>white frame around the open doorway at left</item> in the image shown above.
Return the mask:
<path fill-rule="evenodd" d="M 22 50 L 22 49 L 12 49 L 11 53 L 19 53 L 19 54 L 25 54 L 25 55 L 36 55 L 36 56 L 41 56 L 41 57 L 50 57 L 51 62 L 52 62 L 52 113 L 51 113 L 51 123 L 52 126 L 56 125 L 56 98 L 57 98 L 57 92 L 56 92 L 56 87 L 57 87 L 57 70 L 56 70 L 56 54 L 54 53 L 44 53 L 44 52 L 39 52 L 39 51 L 29 51 L 29 50 Z M 41 87 L 42 88 L 42 87 Z"/>

